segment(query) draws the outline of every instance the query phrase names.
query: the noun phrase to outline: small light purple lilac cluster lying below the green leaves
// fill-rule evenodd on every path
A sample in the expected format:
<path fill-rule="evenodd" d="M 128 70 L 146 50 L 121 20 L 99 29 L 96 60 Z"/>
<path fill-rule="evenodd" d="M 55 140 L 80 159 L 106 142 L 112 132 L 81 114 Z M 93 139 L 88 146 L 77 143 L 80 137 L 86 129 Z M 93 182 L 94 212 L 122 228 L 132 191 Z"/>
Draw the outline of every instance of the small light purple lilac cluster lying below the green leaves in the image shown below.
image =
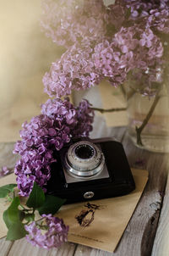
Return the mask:
<path fill-rule="evenodd" d="M 52 214 L 43 214 L 46 225 L 35 224 L 33 221 L 30 225 L 25 225 L 25 230 L 28 231 L 26 239 L 33 246 L 41 248 L 59 248 L 63 242 L 68 241 L 68 226 L 64 225 L 63 220 L 57 217 L 52 217 Z M 46 230 L 41 232 L 41 228 Z"/>

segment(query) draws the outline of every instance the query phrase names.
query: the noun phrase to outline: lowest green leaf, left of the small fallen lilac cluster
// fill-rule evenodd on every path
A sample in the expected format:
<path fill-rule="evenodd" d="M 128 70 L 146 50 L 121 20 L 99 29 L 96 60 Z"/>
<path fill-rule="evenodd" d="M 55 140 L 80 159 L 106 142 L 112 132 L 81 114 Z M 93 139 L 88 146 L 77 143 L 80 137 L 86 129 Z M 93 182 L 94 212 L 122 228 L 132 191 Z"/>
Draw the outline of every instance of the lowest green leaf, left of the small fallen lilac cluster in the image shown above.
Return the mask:
<path fill-rule="evenodd" d="M 24 224 L 19 221 L 10 225 L 6 240 L 18 240 L 25 237 L 26 234 Z"/>

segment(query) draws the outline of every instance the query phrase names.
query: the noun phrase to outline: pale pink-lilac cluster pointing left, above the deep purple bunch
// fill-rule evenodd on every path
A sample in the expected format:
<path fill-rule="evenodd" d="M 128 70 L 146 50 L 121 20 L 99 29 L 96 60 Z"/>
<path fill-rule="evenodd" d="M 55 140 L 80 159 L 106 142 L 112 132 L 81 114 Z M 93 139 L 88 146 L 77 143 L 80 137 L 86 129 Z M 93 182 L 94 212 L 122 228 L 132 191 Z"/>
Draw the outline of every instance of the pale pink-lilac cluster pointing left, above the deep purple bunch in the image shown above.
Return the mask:
<path fill-rule="evenodd" d="M 62 57 L 52 63 L 51 70 L 43 77 L 45 92 L 50 97 L 69 95 L 72 90 L 85 90 L 101 81 L 95 69 L 90 45 L 69 47 Z"/>

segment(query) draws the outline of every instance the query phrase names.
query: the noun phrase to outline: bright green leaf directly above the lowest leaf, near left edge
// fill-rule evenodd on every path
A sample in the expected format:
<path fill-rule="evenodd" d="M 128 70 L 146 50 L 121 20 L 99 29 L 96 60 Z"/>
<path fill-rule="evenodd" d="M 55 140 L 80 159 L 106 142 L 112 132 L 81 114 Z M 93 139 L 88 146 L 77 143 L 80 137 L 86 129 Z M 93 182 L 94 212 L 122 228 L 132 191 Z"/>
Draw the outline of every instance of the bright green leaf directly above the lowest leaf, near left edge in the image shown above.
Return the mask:
<path fill-rule="evenodd" d="M 3 220 L 8 228 L 17 221 L 20 221 L 21 211 L 18 209 L 19 204 L 19 197 L 16 197 L 13 199 L 13 202 L 8 209 L 3 212 Z"/>

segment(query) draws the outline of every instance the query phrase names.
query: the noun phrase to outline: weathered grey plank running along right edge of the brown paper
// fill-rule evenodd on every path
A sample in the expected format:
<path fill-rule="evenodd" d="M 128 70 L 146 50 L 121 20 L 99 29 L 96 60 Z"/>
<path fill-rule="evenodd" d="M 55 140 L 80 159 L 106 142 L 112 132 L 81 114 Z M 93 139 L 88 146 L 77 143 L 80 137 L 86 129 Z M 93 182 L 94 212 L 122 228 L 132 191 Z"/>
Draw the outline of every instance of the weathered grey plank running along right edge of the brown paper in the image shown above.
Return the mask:
<path fill-rule="evenodd" d="M 138 159 L 139 162 L 143 159 L 150 178 L 114 255 L 150 256 L 166 186 L 168 156 L 134 147 L 128 135 L 123 140 L 123 145 L 130 166 L 134 166 Z"/>

